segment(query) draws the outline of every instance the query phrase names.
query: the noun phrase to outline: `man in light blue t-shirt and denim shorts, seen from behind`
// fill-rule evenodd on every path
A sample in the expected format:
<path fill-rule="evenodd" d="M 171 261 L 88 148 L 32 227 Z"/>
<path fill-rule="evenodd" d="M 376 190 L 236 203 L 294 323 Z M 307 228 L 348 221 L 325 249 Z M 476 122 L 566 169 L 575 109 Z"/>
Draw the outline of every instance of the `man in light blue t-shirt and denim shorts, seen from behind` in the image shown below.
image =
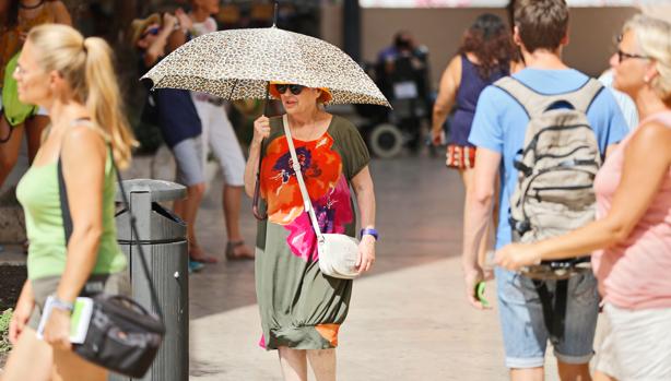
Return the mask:
<path fill-rule="evenodd" d="M 551 106 L 556 106 L 552 108 L 555 115 L 580 110 L 580 118 L 587 119 L 589 129 L 585 130 L 586 134 L 574 138 L 589 148 L 580 152 L 588 155 L 590 163 L 593 162 L 589 168 L 598 167 L 596 160 L 605 156 L 627 132 L 612 94 L 603 91 L 596 80 L 567 67 L 562 60 L 562 51 L 568 44 L 569 11 L 566 2 L 519 0 L 516 5 L 514 40 L 520 47 L 526 68 L 482 92 L 469 135 L 469 142 L 478 147 L 478 154 L 473 194 L 467 197 L 467 207 L 470 211 L 463 226 L 462 266 L 467 298 L 473 307 L 480 309 L 484 306 L 476 298 L 474 289 L 484 276 L 482 266 L 478 263 L 478 249 L 492 218 L 494 199 L 499 201 L 496 231 L 496 248 L 499 249 L 509 243 L 514 234 L 519 231 L 518 224 L 514 224 L 510 215 L 510 210 L 519 204 L 511 201 L 511 197 L 517 194 L 518 180 L 526 172 L 525 167 L 520 166 L 519 152 L 532 141 L 526 138 L 531 128 L 529 122 L 541 119 L 557 121 L 545 114 L 550 108 L 544 109 L 539 118 L 535 109 L 529 111 L 530 105 L 544 106 L 544 103 L 550 102 L 550 96 L 565 99 L 573 95 L 575 99 L 576 95 L 580 95 L 579 100 L 582 100 L 585 106 L 580 103 L 572 104 L 575 106 L 573 110 L 556 104 Z M 505 84 L 515 86 L 514 91 L 507 90 Z M 522 98 L 520 93 L 527 97 Z M 552 127 L 543 127 L 543 132 L 552 131 Z M 539 144 L 530 152 L 535 153 L 535 157 L 557 157 L 552 156 L 552 148 L 555 146 Z M 561 157 L 567 156 L 566 160 L 573 162 L 570 153 Z M 535 174 L 535 168 L 530 169 L 529 172 Z M 561 176 L 563 172 L 553 172 L 555 176 L 557 174 Z M 502 188 L 498 194 L 495 192 L 497 179 L 501 180 Z M 579 186 L 584 186 L 584 189 L 591 188 L 591 183 Z M 573 194 L 570 192 L 568 188 L 563 189 L 560 194 Z M 533 195 L 529 199 L 532 198 Z M 561 200 L 565 201 L 565 198 Z M 566 210 L 573 205 L 557 202 L 552 206 Z M 589 213 L 584 215 L 586 219 L 590 216 Z M 548 342 L 551 341 L 562 380 L 589 380 L 589 361 L 593 355 L 592 342 L 599 312 L 599 295 L 593 275 L 585 272 L 569 279 L 532 279 L 526 274 L 502 267 L 495 269 L 495 275 L 506 366 L 510 369 L 510 379 L 542 380 L 545 352 Z M 564 290 L 562 299 L 565 301 L 565 311 L 560 312 L 561 315 L 545 315 L 543 303 L 552 300 L 544 298 L 540 289 L 544 288 L 551 297 L 557 295 L 555 299 L 558 299 L 560 294 L 555 293 L 558 286 Z M 546 324 L 546 320 L 558 323 Z M 555 330 L 554 326 L 560 324 L 561 330 Z"/>

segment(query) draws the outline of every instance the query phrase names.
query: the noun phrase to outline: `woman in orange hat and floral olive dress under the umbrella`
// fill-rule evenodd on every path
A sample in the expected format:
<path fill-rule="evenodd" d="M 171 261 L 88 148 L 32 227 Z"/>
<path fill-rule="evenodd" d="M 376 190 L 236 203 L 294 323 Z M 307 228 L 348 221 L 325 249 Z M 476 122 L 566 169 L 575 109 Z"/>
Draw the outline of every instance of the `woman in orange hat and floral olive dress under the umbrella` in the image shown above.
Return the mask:
<path fill-rule="evenodd" d="M 362 240 L 357 269 L 375 261 L 375 194 L 369 155 L 356 128 L 326 112 L 328 88 L 272 83 L 282 100 L 301 169 L 322 233 L 355 235 L 354 198 L 360 210 Z M 268 219 L 259 223 L 256 288 L 263 335 L 260 345 L 279 349 L 285 380 L 307 380 L 307 361 L 317 380 L 336 380 L 338 330 L 348 314 L 352 281 L 321 274 L 316 236 L 305 213 L 292 169 L 282 118 L 260 117 L 245 171 L 245 188 L 254 192 L 260 166 L 260 192 Z"/>

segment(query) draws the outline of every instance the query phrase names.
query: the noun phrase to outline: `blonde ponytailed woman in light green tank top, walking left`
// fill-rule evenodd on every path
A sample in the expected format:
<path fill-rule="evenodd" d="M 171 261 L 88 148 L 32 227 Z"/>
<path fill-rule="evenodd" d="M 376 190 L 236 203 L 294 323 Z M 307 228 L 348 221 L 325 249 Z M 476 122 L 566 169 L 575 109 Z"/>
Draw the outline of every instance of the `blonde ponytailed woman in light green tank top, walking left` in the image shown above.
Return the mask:
<path fill-rule="evenodd" d="M 103 39 L 43 25 L 30 33 L 13 74 L 19 98 L 45 107 L 51 127 L 16 190 L 31 241 L 28 281 L 10 324 L 14 349 L 4 381 L 107 379 L 105 369 L 71 350 L 69 326 L 78 296 L 128 290 L 126 258 L 116 243 L 111 160 L 126 167 L 133 139 L 120 110 L 110 53 Z M 68 242 L 59 160 L 72 216 Z M 49 295 L 58 302 L 42 341 L 35 329 Z"/>

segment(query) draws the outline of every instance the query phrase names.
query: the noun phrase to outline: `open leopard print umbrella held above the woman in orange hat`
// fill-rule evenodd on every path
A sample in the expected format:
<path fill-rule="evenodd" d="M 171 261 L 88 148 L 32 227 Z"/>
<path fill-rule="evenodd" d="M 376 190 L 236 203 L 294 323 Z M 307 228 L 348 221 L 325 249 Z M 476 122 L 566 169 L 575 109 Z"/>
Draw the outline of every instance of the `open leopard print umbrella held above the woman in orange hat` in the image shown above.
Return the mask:
<path fill-rule="evenodd" d="M 226 99 L 263 99 L 269 81 L 327 87 L 331 104 L 389 103 L 350 56 L 321 39 L 276 27 L 200 36 L 142 79 L 154 87 L 186 88 Z"/>

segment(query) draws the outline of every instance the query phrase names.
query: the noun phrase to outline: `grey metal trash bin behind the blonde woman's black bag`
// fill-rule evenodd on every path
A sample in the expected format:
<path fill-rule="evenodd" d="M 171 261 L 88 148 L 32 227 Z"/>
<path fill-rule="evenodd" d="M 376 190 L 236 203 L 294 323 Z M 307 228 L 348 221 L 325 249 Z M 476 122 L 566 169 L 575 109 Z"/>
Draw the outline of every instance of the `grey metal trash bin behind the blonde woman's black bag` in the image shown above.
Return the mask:
<path fill-rule="evenodd" d="M 161 180 L 123 181 L 130 210 L 136 217 L 138 237 L 132 237 L 130 213 L 126 205 L 116 215 L 117 239 L 129 259 L 132 296 L 146 308 L 153 308 L 146 276 L 142 271 L 137 240 L 143 247 L 149 272 L 164 314 L 166 334 L 145 381 L 186 381 L 189 377 L 189 282 L 187 227 L 158 202 L 184 199 L 184 186 Z M 123 203 L 117 186 L 116 201 Z M 127 381 L 113 374 L 109 380 Z"/>

